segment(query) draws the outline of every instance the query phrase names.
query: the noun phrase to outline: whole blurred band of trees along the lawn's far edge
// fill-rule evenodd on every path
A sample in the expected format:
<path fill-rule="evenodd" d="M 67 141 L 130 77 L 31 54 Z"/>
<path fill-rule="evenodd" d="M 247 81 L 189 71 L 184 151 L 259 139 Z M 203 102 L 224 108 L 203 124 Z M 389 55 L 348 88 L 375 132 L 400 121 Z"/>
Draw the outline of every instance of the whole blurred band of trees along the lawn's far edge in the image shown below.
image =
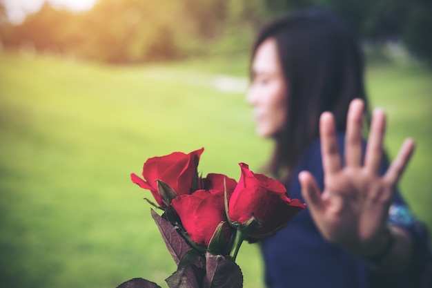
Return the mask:
<path fill-rule="evenodd" d="M 432 64 L 430 0 L 100 0 L 75 14 L 45 4 L 23 23 L 3 23 L 0 37 L 6 47 L 30 42 L 37 50 L 112 63 L 156 61 L 245 52 L 262 23 L 311 6 L 336 12 L 375 43 L 403 41 Z"/>

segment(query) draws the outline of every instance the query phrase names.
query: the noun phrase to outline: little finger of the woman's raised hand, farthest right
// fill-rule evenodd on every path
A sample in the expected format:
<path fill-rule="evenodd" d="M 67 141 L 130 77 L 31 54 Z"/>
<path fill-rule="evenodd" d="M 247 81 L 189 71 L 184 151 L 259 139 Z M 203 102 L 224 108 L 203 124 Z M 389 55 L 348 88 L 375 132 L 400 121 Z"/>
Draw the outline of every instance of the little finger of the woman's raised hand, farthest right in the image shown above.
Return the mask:
<path fill-rule="evenodd" d="M 395 160 L 393 160 L 389 169 L 387 169 L 384 178 L 389 181 L 392 186 L 395 186 L 402 173 L 404 173 L 406 165 L 413 155 L 414 147 L 414 140 L 411 138 L 406 139 L 402 147 L 400 147 Z"/>

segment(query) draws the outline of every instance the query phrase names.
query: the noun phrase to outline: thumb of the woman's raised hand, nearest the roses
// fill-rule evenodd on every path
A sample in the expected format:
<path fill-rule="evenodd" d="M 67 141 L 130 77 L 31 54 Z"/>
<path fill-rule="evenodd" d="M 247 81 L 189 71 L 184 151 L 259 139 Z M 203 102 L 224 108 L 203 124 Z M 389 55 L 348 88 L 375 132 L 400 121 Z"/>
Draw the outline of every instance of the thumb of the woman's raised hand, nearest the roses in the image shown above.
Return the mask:
<path fill-rule="evenodd" d="M 311 211 L 321 211 L 323 202 L 321 191 L 311 173 L 302 171 L 299 174 L 300 185 L 302 186 L 302 196 Z"/>

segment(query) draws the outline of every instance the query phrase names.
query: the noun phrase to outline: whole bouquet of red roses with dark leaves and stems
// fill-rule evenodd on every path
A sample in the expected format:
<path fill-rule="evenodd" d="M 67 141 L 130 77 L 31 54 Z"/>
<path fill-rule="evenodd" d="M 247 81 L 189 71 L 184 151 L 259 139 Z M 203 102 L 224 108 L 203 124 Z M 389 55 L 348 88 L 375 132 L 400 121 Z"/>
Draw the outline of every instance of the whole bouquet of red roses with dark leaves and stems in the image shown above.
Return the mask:
<path fill-rule="evenodd" d="M 131 179 L 150 190 L 156 203 L 146 200 L 163 211 L 151 213 L 177 265 L 166 279 L 168 287 L 241 288 L 243 276 L 235 258 L 242 242 L 273 235 L 306 205 L 288 198 L 284 185 L 253 173 L 244 163 L 239 164 L 238 183 L 223 174 L 201 177 L 197 167 L 203 151 L 152 157 L 144 163 L 144 179 L 134 173 Z M 138 287 L 159 285 L 134 278 L 118 288 Z"/>

